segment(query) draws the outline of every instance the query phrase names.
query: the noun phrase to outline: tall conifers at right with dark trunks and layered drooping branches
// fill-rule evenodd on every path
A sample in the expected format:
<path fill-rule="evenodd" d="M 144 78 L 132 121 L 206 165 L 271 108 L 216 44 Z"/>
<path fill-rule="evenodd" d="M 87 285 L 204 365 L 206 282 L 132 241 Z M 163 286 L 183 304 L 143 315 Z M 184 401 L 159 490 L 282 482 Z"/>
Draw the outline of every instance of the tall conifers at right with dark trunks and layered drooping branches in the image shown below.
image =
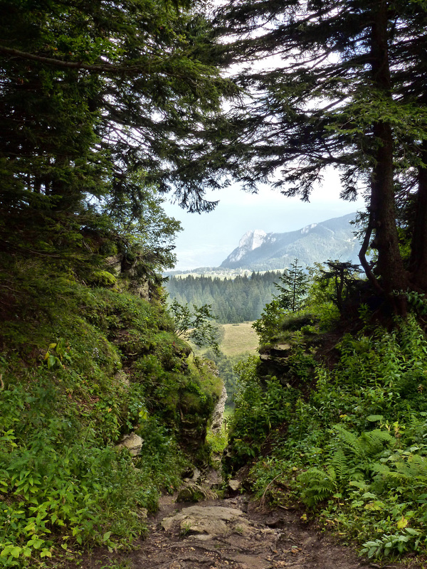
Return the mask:
<path fill-rule="evenodd" d="M 214 151 L 188 149 L 212 179 L 304 200 L 327 166 L 339 169 L 343 198 L 367 196 L 360 259 L 388 297 L 426 290 L 426 23 L 421 0 L 228 2 L 216 26 L 245 95 L 206 132 Z"/>

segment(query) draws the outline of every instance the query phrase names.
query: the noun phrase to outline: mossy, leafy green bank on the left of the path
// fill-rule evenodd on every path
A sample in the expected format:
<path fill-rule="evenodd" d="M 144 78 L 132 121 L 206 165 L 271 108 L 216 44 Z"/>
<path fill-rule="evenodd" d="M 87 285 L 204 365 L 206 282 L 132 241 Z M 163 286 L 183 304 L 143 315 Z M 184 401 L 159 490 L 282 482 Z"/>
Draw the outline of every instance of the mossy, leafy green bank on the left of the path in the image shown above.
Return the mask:
<path fill-rule="evenodd" d="M 0 332 L 5 568 L 143 535 L 159 494 L 176 489 L 197 459 L 197 450 L 181 450 L 183 418 L 206 429 L 222 387 L 209 366 L 191 361 L 162 302 L 46 270 L 31 262 L 7 277 L 19 294 Z M 115 447 L 129 432 L 143 440 L 135 458 Z"/>

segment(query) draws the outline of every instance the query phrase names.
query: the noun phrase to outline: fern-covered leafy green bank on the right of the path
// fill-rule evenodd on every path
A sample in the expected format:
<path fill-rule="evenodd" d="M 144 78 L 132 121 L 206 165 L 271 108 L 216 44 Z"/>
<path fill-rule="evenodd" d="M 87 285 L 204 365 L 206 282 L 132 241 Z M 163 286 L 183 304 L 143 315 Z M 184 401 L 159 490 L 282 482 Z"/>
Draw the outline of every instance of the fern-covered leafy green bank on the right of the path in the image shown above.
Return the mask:
<path fill-rule="evenodd" d="M 427 304 L 410 299 L 415 311 L 384 326 L 366 304 L 340 318 L 319 290 L 255 323 L 260 358 L 237 369 L 226 471 L 244 467 L 263 504 L 303 505 L 303 520 L 369 557 L 425 555 Z"/>

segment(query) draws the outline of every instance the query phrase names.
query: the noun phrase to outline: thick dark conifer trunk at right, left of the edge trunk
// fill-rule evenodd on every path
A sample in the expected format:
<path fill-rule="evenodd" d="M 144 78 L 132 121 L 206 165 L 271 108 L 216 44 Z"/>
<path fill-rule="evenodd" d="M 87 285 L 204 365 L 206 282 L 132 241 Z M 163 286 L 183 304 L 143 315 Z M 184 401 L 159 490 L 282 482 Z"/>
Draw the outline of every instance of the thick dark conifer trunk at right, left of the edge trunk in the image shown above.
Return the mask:
<path fill-rule="evenodd" d="M 391 100 L 391 78 L 387 33 L 387 1 L 378 0 L 372 14 L 371 70 L 374 89 Z M 389 122 L 379 119 L 374 125 L 376 150 L 371 179 L 371 219 L 378 250 L 376 271 L 387 297 L 395 297 L 394 309 L 406 314 L 404 292 L 408 276 L 399 250 L 394 196 L 393 133 Z M 394 294 L 395 292 L 398 294 Z M 401 294 L 399 294 L 399 292 Z"/>

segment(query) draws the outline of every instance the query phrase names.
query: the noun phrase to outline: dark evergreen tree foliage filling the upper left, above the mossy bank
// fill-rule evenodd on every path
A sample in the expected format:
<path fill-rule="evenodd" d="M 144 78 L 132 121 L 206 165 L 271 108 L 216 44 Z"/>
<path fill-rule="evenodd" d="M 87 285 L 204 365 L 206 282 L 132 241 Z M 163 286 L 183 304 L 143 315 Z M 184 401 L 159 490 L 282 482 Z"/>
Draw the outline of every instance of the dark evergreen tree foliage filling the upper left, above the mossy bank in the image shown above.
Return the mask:
<path fill-rule="evenodd" d="M 85 257 L 88 235 L 150 226 L 147 196 L 167 189 L 179 139 L 231 89 L 191 5 L 0 1 L 1 250 Z M 213 207 L 197 193 L 193 202 Z"/>

